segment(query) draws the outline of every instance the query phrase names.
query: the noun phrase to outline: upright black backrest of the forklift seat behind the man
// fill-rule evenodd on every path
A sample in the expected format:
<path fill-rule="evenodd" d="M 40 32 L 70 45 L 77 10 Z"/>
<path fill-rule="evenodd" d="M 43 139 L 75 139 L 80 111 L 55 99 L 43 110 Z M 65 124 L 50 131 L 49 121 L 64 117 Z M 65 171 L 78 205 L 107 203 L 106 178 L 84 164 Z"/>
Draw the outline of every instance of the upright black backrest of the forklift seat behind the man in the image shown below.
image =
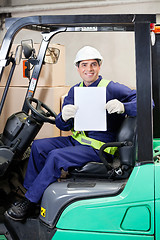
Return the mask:
<path fill-rule="evenodd" d="M 118 142 L 131 142 L 130 146 L 119 148 L 121 165 L 134 166 L 136 160 L 137 119 L 126 117 L 117 134 Z"/>

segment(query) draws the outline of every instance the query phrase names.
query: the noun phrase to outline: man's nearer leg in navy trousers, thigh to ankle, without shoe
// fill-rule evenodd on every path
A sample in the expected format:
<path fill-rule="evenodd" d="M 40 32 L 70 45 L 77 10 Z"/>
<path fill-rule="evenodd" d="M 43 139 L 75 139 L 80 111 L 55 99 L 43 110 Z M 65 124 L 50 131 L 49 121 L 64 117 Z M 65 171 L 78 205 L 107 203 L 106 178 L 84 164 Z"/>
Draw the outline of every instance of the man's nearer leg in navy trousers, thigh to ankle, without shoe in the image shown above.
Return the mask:
<path fill-rule="evenodd" d="M 26 198 L 37 203 L 48 185 L 60 177 L 62 168 L 67 171 L 69 167 L 80 167 L 91 161 L 100 161 L 97 151 L 92 147 L 78 145 L 52 150 L 43 169 L 26 192 Z"/>

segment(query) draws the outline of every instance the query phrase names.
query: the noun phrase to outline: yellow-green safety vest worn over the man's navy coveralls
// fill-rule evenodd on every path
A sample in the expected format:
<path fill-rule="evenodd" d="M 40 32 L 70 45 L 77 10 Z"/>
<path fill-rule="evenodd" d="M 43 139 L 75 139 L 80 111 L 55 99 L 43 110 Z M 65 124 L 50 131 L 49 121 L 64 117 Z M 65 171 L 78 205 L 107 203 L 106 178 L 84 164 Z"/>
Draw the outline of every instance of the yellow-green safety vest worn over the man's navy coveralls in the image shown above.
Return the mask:
<path fill-rule="evenodd" d="M 101 79 L 97 87 L 107 87 L 109 82 L 110 82 L 109 80 Z M 79 87 L 83 87 L 83 82 L 80 83 Z M 102 145 L 105 144 L 104 142 L 101 142 L 99 140 L 87 137 L 84 131 L 74 131 L 73 129 L 71 131 L 73 133 L 73 135 L 71 136 L 83 145 L 88 145 L 99 150 L 102 147 Z M 108 147 L 104 151 L 114 155 L 116 150 L 117 147 Z"/>

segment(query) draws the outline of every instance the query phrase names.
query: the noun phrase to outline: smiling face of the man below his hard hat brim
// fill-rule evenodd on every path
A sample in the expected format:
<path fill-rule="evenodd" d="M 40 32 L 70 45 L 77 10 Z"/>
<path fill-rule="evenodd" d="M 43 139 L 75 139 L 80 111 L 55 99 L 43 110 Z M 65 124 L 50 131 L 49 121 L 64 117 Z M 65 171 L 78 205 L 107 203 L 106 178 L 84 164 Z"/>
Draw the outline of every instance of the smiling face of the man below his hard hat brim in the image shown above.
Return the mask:
<path fill-rule="evenodd" d="M 97 60 L 84 60 L 80 62 L 77 70 L 83 79 L 84 84 L 88 87 L 98 79 L 100 66 Z"/>

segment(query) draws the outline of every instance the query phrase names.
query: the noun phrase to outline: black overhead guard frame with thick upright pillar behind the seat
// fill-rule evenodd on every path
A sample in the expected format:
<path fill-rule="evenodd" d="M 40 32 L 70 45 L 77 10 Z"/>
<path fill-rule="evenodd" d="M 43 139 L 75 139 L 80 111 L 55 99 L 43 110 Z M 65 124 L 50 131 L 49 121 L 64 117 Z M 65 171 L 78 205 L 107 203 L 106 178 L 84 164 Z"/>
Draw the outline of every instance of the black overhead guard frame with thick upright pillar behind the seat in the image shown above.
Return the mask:
<path fill-rule="evenodd" d="M 23 28 L 52 32 L 134 31 L 137 83 L 138 164 L 153 163 L 152 69 L 150 24 L 155 14 L 30 16 L 6 20 L 8 30 L 0 50 L 0 80 L 15 35 Z M 88 29 L 87 29 L 88 28 Z M 62 31 L 60 31 L 62 32 Z M 58 31 L 57 31 L 58 33 Z M 4 63 L 4 65 L 3 65 Z"/>

